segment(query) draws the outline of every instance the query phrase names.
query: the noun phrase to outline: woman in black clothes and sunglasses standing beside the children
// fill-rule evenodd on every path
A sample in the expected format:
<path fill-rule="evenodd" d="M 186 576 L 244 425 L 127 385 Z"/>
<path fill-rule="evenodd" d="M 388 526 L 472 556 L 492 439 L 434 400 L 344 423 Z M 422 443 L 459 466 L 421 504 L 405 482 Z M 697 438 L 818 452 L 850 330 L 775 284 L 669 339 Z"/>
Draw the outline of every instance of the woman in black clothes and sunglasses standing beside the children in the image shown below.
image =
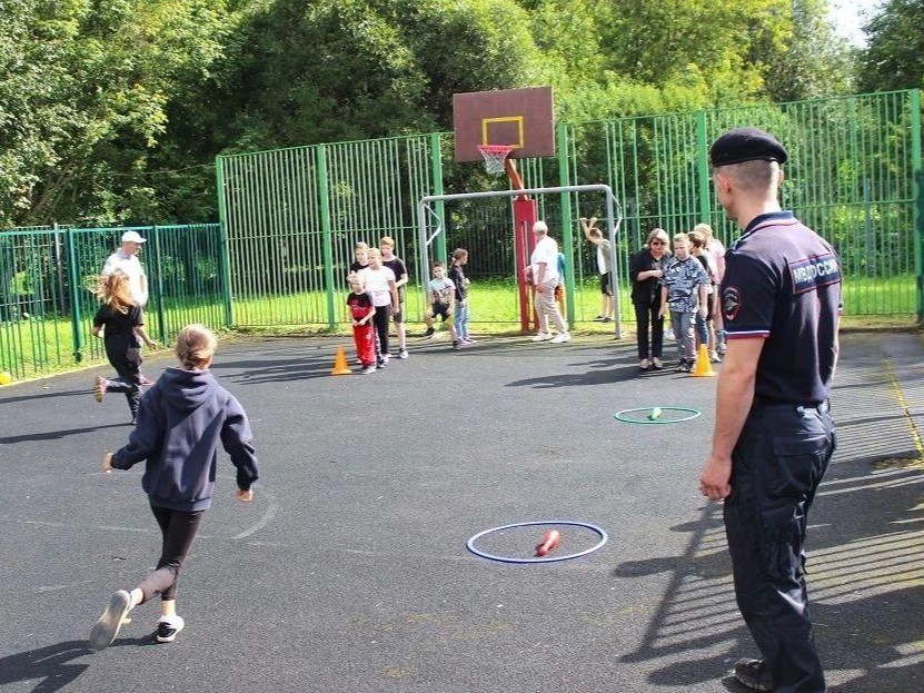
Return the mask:
<path fill-rule="evenodd" d="M 645 247 L 629 258 L 632 277 L 632 303 L 635 306 L 635 321 L 638 326 L 638 368 L 660 370 L 660 354 L 664 347 L 664 318 L 660 310 L 662 264 L 669 257 L 667 231 L 660 228 L 648 234 Z M 648 329 L 650 326 L 650 343 Z"/>

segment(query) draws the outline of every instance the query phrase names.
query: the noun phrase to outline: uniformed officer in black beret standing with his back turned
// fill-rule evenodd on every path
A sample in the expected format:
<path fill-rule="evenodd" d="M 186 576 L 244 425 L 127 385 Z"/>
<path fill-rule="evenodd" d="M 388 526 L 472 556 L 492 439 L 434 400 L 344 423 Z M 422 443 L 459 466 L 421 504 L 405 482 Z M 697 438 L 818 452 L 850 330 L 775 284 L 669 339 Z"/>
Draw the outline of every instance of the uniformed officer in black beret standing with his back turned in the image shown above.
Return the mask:
<path fill-rule="evenodd" d="M 725 498 L 735 595 L 762 655 L 738 661 L 736 677 L 759 691 L 823 693 L 804 544 L 834 453 L 841 269 L 831 245 L 779 207 L 786 158 L 756 128 L 728 131 L 709 150 L 716 196 L 743 235 L 725 255 L 728 350 L 699 485 Z"/>

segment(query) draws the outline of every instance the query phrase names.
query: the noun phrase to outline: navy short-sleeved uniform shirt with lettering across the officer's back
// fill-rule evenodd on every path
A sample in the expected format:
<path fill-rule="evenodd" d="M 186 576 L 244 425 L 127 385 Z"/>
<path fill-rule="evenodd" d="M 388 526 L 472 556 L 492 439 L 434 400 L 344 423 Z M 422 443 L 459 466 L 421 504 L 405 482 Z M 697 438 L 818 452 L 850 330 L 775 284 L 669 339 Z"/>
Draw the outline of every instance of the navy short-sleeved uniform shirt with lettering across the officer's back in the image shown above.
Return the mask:
<path fill-rule="evenodd" d="M 831 393 L 841 264 L 791 211 L 755 218 L 725 254 L 722 313 L 728 339 L 765 338 L 755 395 L 818 404 Z"/>

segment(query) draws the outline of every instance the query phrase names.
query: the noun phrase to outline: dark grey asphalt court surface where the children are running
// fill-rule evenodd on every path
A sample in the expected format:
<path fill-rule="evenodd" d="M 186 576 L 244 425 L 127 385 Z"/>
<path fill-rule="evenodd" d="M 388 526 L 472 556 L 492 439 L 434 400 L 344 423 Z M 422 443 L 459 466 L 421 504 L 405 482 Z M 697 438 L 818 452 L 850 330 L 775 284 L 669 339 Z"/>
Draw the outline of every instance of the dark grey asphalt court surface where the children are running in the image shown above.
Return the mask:
<path fill-rule="evenodd" d="M 254 503 L 236 502 L 221 458 L 180 580 L 187 627 L 170 645 L 151 644 L 156 605 L 108 650 L 86 645 L 109 595 L 159 550 L 141 465 L 101 472 L 129 433 L 120 395 L 92 397 L 108 368 L 0 388 L 3 693 L 742 691 L 728 670 L 756 653 L 721 506 L 697 489 L 714 378 L 639 375 L 630 340 L 603 337 L 459 353 L 411 339 L 407 360 L 334 377 L 339 344 L 220 347 L 213 372 L 251 418 L 261 479 Z M 920 335 L 843 337 L 838 452 L 808 545 L 832 691 L 924 690 L 923 357 Z M 145 372 L 168 365 L 149 357 Z M 655 406 L 702 415 L 614 418 Z M 608 541 L 547 564 L 466 548 L 545 519 Z M 557 528 L 556 552 L 598 541 Z M 544 531 L 484 546 L 530 556 Z"/>

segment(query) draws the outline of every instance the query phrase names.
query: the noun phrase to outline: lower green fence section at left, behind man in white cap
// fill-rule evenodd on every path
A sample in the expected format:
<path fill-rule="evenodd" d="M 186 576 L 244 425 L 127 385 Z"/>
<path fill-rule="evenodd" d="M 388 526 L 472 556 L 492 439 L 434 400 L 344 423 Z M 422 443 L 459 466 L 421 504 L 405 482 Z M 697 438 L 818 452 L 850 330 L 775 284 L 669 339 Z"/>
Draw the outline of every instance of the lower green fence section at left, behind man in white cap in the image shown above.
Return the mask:
<path fill-rule="evenodd" d="M 93 289 L 119 228 L 30 227 L 0 232 L 0 370 L 23 378 L 105 360 L 92 337 Z M 171 339 L 189 323 L 227 325 L 227 271 L 217 224 L 131 227 L 151 287 L 146 327 Z"/>

